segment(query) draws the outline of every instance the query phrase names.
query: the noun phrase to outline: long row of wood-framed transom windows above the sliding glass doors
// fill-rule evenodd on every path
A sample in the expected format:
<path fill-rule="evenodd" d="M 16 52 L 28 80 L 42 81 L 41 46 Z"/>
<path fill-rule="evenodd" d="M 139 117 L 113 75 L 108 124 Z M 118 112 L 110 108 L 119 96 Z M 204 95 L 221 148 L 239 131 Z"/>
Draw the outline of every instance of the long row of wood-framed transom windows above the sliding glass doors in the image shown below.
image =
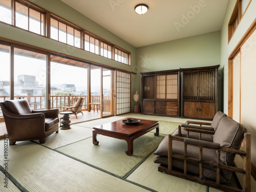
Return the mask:
<path fill-rule="evenodd" d="M 131 65 L 130 52 L 27 0 L 0 0 L 0 22 Z"/>

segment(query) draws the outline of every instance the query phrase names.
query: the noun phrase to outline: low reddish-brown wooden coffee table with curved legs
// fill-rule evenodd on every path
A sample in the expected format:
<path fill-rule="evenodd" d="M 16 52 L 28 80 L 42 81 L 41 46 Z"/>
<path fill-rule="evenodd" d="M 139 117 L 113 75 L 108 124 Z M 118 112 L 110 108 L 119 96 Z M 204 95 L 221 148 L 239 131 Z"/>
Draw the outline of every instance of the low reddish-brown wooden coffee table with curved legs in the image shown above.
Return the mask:
<path fill-rule="evenodd" d="M 125 124 L 122 122 L 122 120 L 124 119 L 93 127 L 93 144 L 99 144 L 99 141 L 97 141 L 96 138 L 97 134 L 117 139 L 123 139 L 127 142 L 128 145 L 127 151 L 125 151 L 126 155 L 133 155 L 134 139 L 154 129 L 156 129 L 155 136 L 159 135 L 159 124 L 157 123 L 158 121 L 140 119 L 141 121 L 139 123 Z"/>

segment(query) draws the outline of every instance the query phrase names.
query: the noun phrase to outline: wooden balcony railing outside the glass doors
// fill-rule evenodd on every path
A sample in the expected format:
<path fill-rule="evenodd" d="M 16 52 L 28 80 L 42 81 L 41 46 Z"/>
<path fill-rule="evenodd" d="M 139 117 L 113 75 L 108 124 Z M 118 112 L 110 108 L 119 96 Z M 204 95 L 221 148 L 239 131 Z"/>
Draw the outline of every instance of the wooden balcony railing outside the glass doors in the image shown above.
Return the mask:
<path fill-rule="evenodd" d="M 51 96 L 51 109 L 57 108 L 59 111 L 62 111 L 62 107 L 66 104 L 75 104 L 77 99 L 79 97 L 84 97 L 84 103 L 82 110 L 87 110 L 87 95 L 55 95 Z M 9 100 L 9 96 L 0 96 L 0 102 L 3 102 L 5 100 Z M 32 109 L 34 110 L 42 110 L 46 109 L 46 97 L 45 96 L 31 96 L 30 94 L 27 94 L 26 96 L 14 96 L 14 99 L 27 99 L 29 104 L 31 105 Z M 109 105 L 110 102 L 104 102 L 104 101 L 110 101 L 110 96 L 103 96 L 103 103 L 104 105 Z M 100 103 L 100 96 L 99 95 L 92 95 L 91 96 L 91 102 Z M 110 106 L 104 106 L 104 109 L 108 109 Z M 0 116 L 3 116 L 2 110 L 0 108 Z"/>

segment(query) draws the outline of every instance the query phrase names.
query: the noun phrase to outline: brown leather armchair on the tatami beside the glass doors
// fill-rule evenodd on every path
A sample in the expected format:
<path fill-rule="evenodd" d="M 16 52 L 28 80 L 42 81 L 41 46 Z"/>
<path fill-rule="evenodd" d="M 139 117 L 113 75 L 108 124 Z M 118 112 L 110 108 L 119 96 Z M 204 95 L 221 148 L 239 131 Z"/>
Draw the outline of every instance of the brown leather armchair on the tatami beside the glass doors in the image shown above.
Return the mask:
<path fill-rule="evenodd" d="M 45 143 L 52 133 L 58 133 L 58 109 L 31 110 L 27 100 L 0 102 L 10 145 L 16 141 L 36 140 Z"/>

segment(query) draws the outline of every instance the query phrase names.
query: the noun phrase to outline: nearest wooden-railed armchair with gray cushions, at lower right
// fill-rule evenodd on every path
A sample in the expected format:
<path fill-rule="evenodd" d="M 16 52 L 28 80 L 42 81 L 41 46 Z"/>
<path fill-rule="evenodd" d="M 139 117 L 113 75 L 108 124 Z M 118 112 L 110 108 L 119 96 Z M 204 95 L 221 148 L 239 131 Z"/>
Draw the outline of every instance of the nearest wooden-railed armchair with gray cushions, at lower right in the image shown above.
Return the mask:
<path fill-rule="evenodd" d="M 211 134 L 212 139 L 167 135 L 154 153 L 154 162 L 160 163 L 158 170 L 224 191 L 250 191 L 251 134 L 246 133 L 243 125 L 225 116 L 212 133 L 195 130 Z M 242 141 L 244 149 L 240 150 Z M 235 155 L 242 156 L 243 168 L 234 166 Z M 243 189 L 225 184 L 236 172 L 243 174 Z"/>

